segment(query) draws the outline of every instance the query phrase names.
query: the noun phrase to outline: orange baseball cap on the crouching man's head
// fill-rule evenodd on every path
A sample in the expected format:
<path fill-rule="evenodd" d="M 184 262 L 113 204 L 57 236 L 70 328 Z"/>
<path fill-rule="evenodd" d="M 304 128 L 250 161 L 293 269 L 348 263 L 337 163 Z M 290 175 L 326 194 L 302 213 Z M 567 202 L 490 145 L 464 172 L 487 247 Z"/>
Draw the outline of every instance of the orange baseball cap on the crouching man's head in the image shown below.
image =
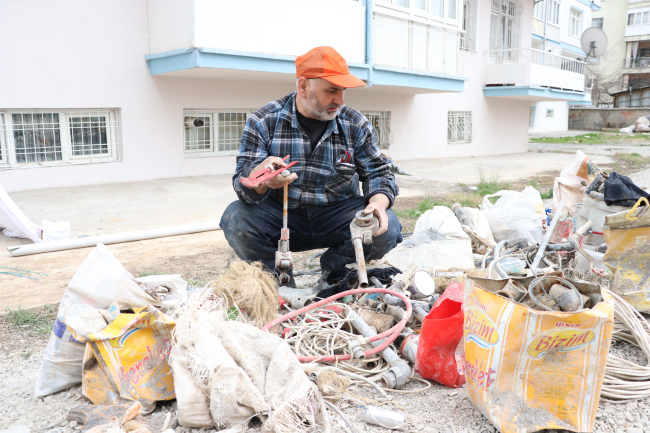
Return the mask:
<path fill-rule="evenodd" d="M 342 55 L 332 47 L 316 47 L 296 58 L 296 77 L 322 78 L 345 88 L 363 87 L 363 81 L 350 73 Z"/>

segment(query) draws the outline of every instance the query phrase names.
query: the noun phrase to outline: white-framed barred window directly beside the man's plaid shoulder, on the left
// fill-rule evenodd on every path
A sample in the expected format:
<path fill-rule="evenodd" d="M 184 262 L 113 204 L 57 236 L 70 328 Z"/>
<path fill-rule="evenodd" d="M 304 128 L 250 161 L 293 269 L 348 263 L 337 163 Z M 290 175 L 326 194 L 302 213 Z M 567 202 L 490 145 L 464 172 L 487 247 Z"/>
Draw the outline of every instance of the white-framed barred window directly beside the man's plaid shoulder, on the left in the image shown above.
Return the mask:
<path fill-rule="evenodd" d="M 183 110 L 186 158 L 236 155 L 251 110 Z"/>

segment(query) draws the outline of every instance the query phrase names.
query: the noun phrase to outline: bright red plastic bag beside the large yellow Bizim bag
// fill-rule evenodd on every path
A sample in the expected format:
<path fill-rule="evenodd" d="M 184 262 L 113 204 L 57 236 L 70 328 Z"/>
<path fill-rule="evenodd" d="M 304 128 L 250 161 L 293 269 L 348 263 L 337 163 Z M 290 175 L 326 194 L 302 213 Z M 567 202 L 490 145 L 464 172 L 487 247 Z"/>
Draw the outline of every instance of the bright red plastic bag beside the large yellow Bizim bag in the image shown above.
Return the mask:
<path fill-rule="evenodd" d="M 458 388 L 465 383 L 463 285 L 451 283 L 424 318 L 415 371 L 425 379 Z"/>

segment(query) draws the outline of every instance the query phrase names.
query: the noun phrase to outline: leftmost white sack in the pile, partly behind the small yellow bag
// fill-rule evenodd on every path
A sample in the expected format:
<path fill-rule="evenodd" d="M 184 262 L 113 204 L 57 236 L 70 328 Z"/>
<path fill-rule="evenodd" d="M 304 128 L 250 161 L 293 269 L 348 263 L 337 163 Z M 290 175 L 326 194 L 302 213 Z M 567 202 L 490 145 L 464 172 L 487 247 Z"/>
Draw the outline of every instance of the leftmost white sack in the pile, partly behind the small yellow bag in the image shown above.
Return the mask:
<path fill-rule="evenodd" d="M 34 395 L 42 397 L 81 382 L 85 344 L 66 328 L 64 314 L 69 306 L 87 304 L 108 308 L 118 302 L 125 308 L 162 305 L 138 286 L 134 278 L 103 244 L 98 244 L 72 277 L 66 289 L 52 335 L 38 372 Z"/>

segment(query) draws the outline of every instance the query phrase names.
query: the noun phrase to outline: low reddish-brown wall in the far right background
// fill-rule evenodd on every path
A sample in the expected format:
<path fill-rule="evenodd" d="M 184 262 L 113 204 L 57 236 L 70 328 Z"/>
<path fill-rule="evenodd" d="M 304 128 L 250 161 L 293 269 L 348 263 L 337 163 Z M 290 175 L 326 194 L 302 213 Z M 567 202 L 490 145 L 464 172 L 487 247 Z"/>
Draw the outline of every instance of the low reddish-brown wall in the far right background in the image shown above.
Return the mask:
<path fill-rule="evenodd" d="M 596 130 L 625 128 L 641 116 L 650 116 L 650 109 L 569 108 L 569 129 Z"/>

